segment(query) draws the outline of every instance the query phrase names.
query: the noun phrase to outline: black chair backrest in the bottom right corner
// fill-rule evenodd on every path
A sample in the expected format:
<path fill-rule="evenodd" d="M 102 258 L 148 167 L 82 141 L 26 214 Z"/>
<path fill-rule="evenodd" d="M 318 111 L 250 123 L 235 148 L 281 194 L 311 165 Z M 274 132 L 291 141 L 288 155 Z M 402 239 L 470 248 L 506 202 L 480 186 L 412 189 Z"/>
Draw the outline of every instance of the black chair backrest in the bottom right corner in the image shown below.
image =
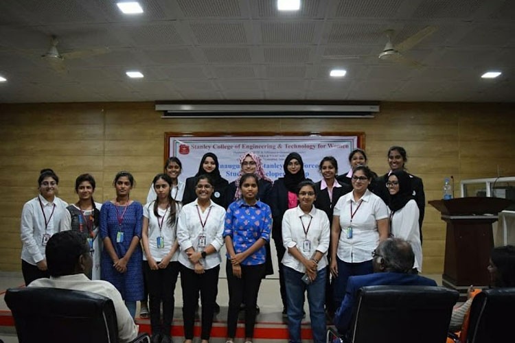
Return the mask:
<path fill-rule="evenodd" d="M 470 306 L 467 343 L 513 342 L 515 287 L 485 289 Z"/>

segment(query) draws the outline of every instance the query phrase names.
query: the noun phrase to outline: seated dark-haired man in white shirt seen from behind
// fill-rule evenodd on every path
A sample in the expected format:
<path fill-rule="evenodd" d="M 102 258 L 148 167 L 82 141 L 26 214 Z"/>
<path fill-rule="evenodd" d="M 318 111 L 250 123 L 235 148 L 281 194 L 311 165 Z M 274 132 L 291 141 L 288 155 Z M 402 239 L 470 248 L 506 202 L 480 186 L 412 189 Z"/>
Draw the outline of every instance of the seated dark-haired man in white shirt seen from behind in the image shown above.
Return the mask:
<path fill-rule="evenodd" d="M 87 291 L 113 300 L 118 323 L 119 342 L 130 342 L 137 337 L 138 327 L 122 300 L 122 295 L 107 281 L 88 279 L 93 259 L 86 236 L 69 230 L 50 237 L 45 248 L 50 279 L 37 279 L 28 287 L 55 287 Z"/>

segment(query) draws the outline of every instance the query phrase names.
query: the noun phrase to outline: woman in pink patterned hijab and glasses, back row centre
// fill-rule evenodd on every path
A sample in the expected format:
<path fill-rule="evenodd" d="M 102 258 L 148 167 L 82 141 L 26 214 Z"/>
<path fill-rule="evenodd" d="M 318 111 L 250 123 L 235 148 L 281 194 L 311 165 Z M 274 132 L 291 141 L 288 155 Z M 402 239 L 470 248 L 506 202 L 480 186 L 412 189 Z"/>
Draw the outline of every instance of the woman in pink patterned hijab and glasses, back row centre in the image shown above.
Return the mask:
<path fill-rule="evenodd" d="M 272 191 L 273 181 L 270 178 L 268 178 L 268 176 L 266 176 L 260 156 L 254 154 L 253 152 L 245 152 L 240 156 L 240 165 L 242 169 L 240 170 L 238 178 L 236 178 L 236 180 L 234 180 L 233 182 L 229 183 L 229 187 L 227 187 L 227 191 L 225 191 L 225 204 L 229 205 L 232 202 L 242 199 L 242 190 L 239 187 L 240 178 L 243 174 L 254 174 L 255 176 L 258 176 L 257 198 L 258 200 L 260 200 L 260 202 L 264 202 L 265 204 L 270 206 L 270 193 Z M 265 275 L 272 275 L 272 256 L 270 252 L 270 243 L 268 241 L 266 242 L 265 247 Z"/>

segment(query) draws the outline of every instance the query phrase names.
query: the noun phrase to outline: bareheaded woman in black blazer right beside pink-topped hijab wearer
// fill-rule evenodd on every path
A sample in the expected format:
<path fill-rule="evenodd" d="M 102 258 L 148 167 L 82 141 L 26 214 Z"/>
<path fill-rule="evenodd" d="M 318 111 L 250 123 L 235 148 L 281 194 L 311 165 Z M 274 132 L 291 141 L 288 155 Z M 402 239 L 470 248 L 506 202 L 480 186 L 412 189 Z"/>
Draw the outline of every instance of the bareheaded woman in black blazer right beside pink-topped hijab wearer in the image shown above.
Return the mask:
<path fill-rule="evenodd" d="M 317 198 L 314 200 L 314 206 L 321 209 L 328 215 L 329 222 L 332 223 L 332 211 L 338 199 L 346 193 L 352 191 L 352 186 L 336 180 L 338 174 L 338 162 L 333 156 L 325 156 L 319 165 L 320 174 L 323 179 L 314 184 L 314 192 Z M 329 244 L 329 248 L 331 244 Z M 331 253 L 328 251 L 328 259 Z M 330 262 L 330 260 L 329 260 Z M 327 281 L 325 282 L 325 311 L 328 316 L 334 316 L 334 299 L 332 284 L 330 283 L 330 274 L 327 273 Z"/>

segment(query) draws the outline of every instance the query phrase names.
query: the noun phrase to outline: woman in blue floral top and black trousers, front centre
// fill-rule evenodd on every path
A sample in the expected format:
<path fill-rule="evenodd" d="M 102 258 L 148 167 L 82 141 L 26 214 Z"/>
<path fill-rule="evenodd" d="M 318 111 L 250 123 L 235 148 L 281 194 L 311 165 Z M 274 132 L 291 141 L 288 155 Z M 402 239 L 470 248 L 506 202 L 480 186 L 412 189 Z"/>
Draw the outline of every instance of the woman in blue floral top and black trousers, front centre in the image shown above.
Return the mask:
<path fill-rule="evenodd" d="M 243 298 L 246 304 L 245 342 L 252 342 L 255 305 L 265 273 L 264 245 L 270 240 L 272 227 L 270 207 L 257 199 L 258 177 L 255 174 L 243 174 L 240 178 L 240 189 L 242 198 L 230 204 L 227 209 L 223 234 L 227 248 L 227 342 L 230 343 L 236 335 L 238 310 Z"/>

